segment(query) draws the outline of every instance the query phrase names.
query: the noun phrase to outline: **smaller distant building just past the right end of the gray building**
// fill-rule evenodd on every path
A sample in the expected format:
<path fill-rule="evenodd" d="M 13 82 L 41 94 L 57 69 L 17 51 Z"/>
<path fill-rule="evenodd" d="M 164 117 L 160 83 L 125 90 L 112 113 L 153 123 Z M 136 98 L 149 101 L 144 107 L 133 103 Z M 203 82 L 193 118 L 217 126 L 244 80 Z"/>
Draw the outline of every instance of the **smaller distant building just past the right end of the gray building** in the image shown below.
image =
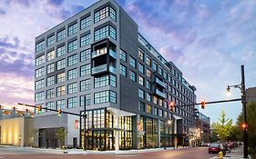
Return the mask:
<path fill-rule="evenodd" d="M 210 142 L 210 117 L 205 114 L 198 113 L 196 118 L 197 134 L 199 137 L 198 144 Z"/>

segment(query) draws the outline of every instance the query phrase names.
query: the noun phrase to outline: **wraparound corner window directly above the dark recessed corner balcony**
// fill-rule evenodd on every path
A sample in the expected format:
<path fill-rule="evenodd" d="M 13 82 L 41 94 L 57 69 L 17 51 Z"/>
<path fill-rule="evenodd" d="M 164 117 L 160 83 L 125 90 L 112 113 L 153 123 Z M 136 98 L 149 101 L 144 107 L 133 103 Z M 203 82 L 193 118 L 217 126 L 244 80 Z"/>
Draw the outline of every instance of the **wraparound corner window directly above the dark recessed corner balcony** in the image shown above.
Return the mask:
<path fill-rule="evenodd" d="M 106 25 L 102 28 L 99 28 L 94 32 L 94 41 L 106 38 L 108 37 L 108 35 L 110 35 L 113 39 L 116 40 L 117 30 L 110 25 Z"/>

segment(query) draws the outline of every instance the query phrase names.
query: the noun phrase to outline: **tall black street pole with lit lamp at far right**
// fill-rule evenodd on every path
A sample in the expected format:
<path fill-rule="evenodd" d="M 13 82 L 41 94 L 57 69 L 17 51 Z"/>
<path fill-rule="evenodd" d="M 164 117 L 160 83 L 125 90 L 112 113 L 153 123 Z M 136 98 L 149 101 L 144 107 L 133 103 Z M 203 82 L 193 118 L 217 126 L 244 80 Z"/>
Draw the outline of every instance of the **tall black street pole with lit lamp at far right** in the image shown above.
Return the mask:
<path fill-rule="evenodd" d="M 228 87 L 227 87 L 227 94 L 230 94 L 230 87 L 240 88 L 240 90 L 241 90 L 241 104 L 242 104 L 242 111 L 243 111 L 243 124 L 247 125 L 244 65 L 241 65 L 241 84 L 228 85 Z M 247 132 L 247 126 L 243 127 L 243 158 L 248 158 L 248 132 Z"/>

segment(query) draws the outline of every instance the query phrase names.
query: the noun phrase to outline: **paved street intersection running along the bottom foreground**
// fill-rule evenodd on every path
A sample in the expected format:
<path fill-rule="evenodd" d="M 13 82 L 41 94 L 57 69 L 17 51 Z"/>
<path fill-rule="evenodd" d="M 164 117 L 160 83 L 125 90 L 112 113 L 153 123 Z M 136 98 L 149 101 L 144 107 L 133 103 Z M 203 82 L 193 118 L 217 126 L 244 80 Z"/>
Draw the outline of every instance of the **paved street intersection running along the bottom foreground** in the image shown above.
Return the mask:
<path fill-rule="evenodd" d="M 209 159 L 207 147 L 180 148 L 138 154 L 49 154 L 35 150 L 8 149 L 0 147 L 0 159 Z"/>

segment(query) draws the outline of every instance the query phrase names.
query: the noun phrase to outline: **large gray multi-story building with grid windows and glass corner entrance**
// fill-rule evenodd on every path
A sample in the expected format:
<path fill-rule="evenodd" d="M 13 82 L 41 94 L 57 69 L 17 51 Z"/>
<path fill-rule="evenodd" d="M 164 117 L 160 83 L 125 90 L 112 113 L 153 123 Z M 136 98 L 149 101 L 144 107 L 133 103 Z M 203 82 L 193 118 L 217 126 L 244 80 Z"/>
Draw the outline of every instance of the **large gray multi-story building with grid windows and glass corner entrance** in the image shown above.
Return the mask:
<path fill-rule="evenodd" d="M 118 150 L 189 143 L 195 126 L 196 87 L 138 33 L 114 1 L 95 5 L 36 37 L 36 105 L 83 114 L 36 114 L 39 146 L 56 146 L 56 128 L 67 146 Z M 167 122 L 171 120 L 172 122 Z"/>

